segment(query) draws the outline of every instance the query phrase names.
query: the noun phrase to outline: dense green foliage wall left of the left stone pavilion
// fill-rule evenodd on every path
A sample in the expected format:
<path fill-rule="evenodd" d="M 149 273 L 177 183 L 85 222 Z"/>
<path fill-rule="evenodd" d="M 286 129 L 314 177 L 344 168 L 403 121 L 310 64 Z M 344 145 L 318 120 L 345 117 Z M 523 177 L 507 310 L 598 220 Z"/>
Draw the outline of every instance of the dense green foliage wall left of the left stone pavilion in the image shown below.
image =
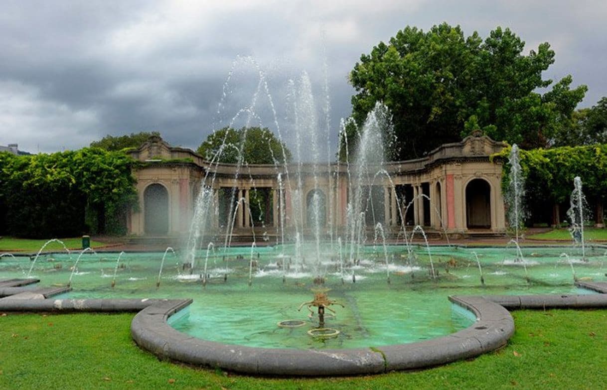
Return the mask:
<path fill-rule="evenodd" d="M 99 148 L 15 156 L 0 153 L 0 227 L 16 237 L 124 234 L 137 207 L 135 162 Z"/>

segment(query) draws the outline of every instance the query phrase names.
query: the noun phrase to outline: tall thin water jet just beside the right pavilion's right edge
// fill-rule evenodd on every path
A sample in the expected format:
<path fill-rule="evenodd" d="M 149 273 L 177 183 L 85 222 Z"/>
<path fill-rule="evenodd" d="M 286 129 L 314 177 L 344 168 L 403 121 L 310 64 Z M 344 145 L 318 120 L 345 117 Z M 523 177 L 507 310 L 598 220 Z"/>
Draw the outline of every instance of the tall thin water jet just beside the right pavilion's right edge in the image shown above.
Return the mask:
<path fill-rule="evenodd" d="M 508 206 L 508 223 L 514 228 L 514 237 L 518 242 L 520 227 L 524 220 L 524 177 L 521 172 L 520 156 L 517 144 L 512 145 L 508 159 L 510 173 L 508 190 L 506 192 L 506 204 Z"/>

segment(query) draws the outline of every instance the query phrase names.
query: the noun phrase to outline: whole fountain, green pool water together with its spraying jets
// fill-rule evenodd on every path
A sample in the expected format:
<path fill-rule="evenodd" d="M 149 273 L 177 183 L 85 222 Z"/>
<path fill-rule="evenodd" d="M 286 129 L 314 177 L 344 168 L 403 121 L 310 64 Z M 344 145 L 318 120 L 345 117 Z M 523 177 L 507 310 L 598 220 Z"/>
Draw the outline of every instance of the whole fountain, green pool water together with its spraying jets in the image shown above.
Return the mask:
<path fill-rule="evenodd" d="M 260 235 L 256 236 L 256 228 L 259 232 L 266 227 L 263 223 L 254 226 L 257 221 L 254 221 L 248 195 L 243 196 L 240 192 L 242 188 L 246 191 L 255 190 L 262 180 L 256 183 L 254 175 L 250 173 L 255 167 L 249 166 L 248 162 L 243 160 L 243 144 L 235 146 L 239 152 L 239 161 L 234 166 L 229 166 L 229 172 L 234 172 L 234 176 L 226 179 L 226 173 L 222 172 L 226 166 L 220 163 L 222 153 L 228 148 L 223 140 L 224 143 L 217 153 L 209 156 L 209 167 L 205 169 L 197 191 L 194 218 L 182 258 L 183 269 L 187 268 L 189 275 L 181 275 L 178 263 L 175 271 L 169 267 L 164 269 L 169 250 L 178 258 L 171 247 L 164 250 L 163 254 L 121 253 L 116 260 L 114 279 L 109 288 L 106 282 L 101 283 L 98 272 L 95 272 L 98 262 L 86 259 L 81 261 L 84 252 L 90 250 L 85 249 L 73 264 L 69 284 L 71 285 L 73 275 L 78 272 L 77 266 L 80 266 L 81 271 L 88 271 L 78 272 L 83 275 L 82 283 L 87 283 L 87 288 L 85 292 L 73 292 L 73 296 L 82 298 L 88 294 L 86 297 L 125 298 L 131 297 L 136 291 L 138 295 L 146 296 L 144 300 L 147 300 L 147 297 L 193 298 L 194 301 L 187 312 L 178 312 L 169 318 L 169 324 L 188 334 L 189 341 L 192 341 L 192 337 L 198 337 L 213 343 L 236 346 L 236 349 L 242 346 L 295 349 L 294 355 L 309 352 L 310 349 L 328 350 L 327 353 L 320 351 L 314 359 L 321 355 L 340 355 L 343 351 L 346 351 L 343 352 L 345 354 L 351 349 L 359 348 L 365 349 L 365 353 L 372 352 L 381 360 L 381 357 L 378 357 L 381 354 L 373 349 L 375 346 L 396 346 L 430 338 L 449 337 L 454 329 L 464 329 L 472 324 L 478 325 L 478 328 L 474 328 L 476 330 L 486 329 L 482 324 L 476 323 L 476 319 L 469 313 L 461 314 L 453 309 L 452 304 L 445 298 L 447 294 L 470 294 L 471 290 L 483 291 L 482 286 L 490 287 L 492 292 L 497 294 L 511 294 L 517 289 L 538 294 L 557 291 L 563 295 L 577 291 L 571 283 L 571 278 L 560 280 L 550 276 L 554 273 L 553 264 L 560 259 L 561 248 L 541 250 L 541 261 L 531 262 L 524 258 L 524 254 L 527 257 L 531 257 L 531 254 L 518 245 L 518 226 L 523 215 L 520 201 L 523 195 L 520 165 L 518 169 L 513 169 L 518 173 L 511 180 L 512 183 L 520 184 L 515 186 L 515 202 L 511 207 L 515 215 L 514 223 L 511 222 L 511 226 L 515 228 L 515 238 L 510 242 L 515 244 L 517 250 L 512 264 L 504 260 L 503 247 L 478 248 L 471 251 L 460 246 L 432 246 L 429 243 L 430 233 L 426 234 L 421 226 L 424 224 L 423 218 L 416 217 L 415 226 L 408 232 L 405 217 L 410 206 L 415 209 L 421 204 L 423 208 L 424 202 L 436 195 L 426 195 L 422 190 L 413 197 L 406 195 L 405 198 L 402 192 L 397 192 L 395 181 L 399 182 L 392 180 L 389 172 L 393 171 L 388 172 L 385 163 L 385 138 L 386 135 L 389 138 L 392 133 L 387 109 L 382 104 L 377 104 L 364 125 L 350 140 L 345 133 L 345 127 L 347 123 L 352 123 L 351 119 L 342 121 L 344 144 L 339 147 L 344 148 L 347 159 L 344 164 L 329 164 L 328 161 L 320 161 L 318 140 L 324 138 L 324 133 L 320 136 L 319 127 L 316 126 L 316 104 L 312 98 L 310 79 L 307 75 L 302 75 L 297 81 L 290 82 L 290 88 L 292 90 L 287 100 L 293 107 L 289 115 L 297 129 L 297 161 L 287 164 L 283 151 L 282 159 L 280 156 L 273 156 L 273 166 L 263 173 L 263 179 L 275 180 L 277 183 L 277 187 L 273 188 L 277 190 L 273 217 L 279 221 L 276 226 L 276 245 L 268 245 L 273 243 L 273 240 L 257 242 L 256 237 Z M 225 90 L 228 90 L 226 86 Z M 260 72 L 260 81 L 251 103 L 240 110 L 229 125 L 234 124 L 240 116 L 246 116 L 245 127 L 256 121 L 259 118 L 256 104 L 263 92 L 271 103 L 265 75 Z M 220 107 L 222 104 L 223 100 Z M 282 141 L 273 104 L 271 107 L 279 140 Z M 328 106 L 325 115 L 328 115 Z M 325 121 L 328 123 L 327 116 Z M 244 136 L 246 138 L 246 132 Z M 348 141 L 356 141 L 356 151 L 352 150 L 354 148 L 348 145 Z M 329 145 L 327 150 L 330 150 Z M 310 153 L 313 160 L 311 164 L 304 163 L 305 152 Z M 513 156 L 514 160 L 510 161 L 513 167 L 517 166 L 517 158 L 518 156 Z M 330 159 L 329 153 L 327 159 Z M 322 172 L 325 167 L 327 172 Z M 218 179 L 219 177 L 221 179 Z M 381 183 L 378 178 L 381 178 Z M 347 181 L 347 185 L 339 187 L 337 184 L 340 180 Z M 236 186 L 241 184 L 243 187 L 239 190 Z M 221 186 L 226 186 L 223 188 L 230 193 L 224 204 L 227 205 L 225 213 L 220 215 L 217 190 Z M 347 191 L 341 190 L 346 187 Z M 376 187 L 383 193 L 378 192 Z M 581 193 L 581 181 L 579 187 Z M 452 190 L 449 188 L 446 185 L 443 193 L 449 193 Z M 324 196 L 323 189 L 326 189 L 327 196 Z M 339 210 L 333 206 L 337 204 L 338 199 L 342 200 L 342 206 L 345 205 Z M 396 205 L 396 209 L 392 204 Z M 434 213 L 432 219 L 438 218 L 439 221 L 439 226 L 434 224 L 433 227 L 437 230 L 442 228 L 444 231 L 443 216 L 449 217 L 448 213 L 438 207 L 430 209 L 430 213 Z M 327 215 L 329 221 L 325 220 Z M 426 216 L 428 215 L 426 212 Z M 220 218 L 222 220 L 215 225 Z M 338 218 L 345 221 L 339 228 L 333 224 Z M 449 221 L 449 218 L 446 220 Z M 232 242 L 237 242 L 233 240 L 236 234 L 242 234 L 249 228 L 253 242 L 242 247 L 232 245 Z M 240 229 L 240 232 L 236 229 Z M 267 237 L 266 233 L 264 231 L 261 237 Z M 370 235 L 373 233 L 374 241 L 381 242 L 381 247 L 369 245 Z M 415 235 L 421 236 L 423 246 L 413 244 Z M 580 235 L 583 237 L 583 228 Z M 404 242 L 390 244 L 394 237 L 397 240 L 402 237 Z M 36 255 L 28 275 L 42 249 L 44 247 Z M 466 280 L 469 276 L 466 267 L 457 266 L 464 263 L 470 266 L 472 257 L 475 258 L 480 273 L 480 286 L 476 282 L 470 285 L 470 281 Z M 121 280 L 116 284 L 121 258 L 127 258 L 123 263 L 127 261 L 128 264 L 133 264 L 134 274 L 124 280 L 124 283 Z M 0 262 L 0 275 L 3 278 L 21 275 L 19 267 L 15 265 L 21 259 L 7 260 L 3 258 Z M 223 260 L 223 263 L 217 260 Z M 197 261 L 200 264 L 197 264 Z M 217 266 L 213 265 L 215 263 Z M 447 275 L 439 275 L 436 267 L 446 263 L 452 264 L 452 267 Z M 573 272 L 571 259 L 569 264 Z M 514 266 L 509 272 L 503 272 L 503 267 L 509 265 Z M 519 265 L 523 265 L 524 273 Z M 580 264 L 574 272 L 574 278 L 592 277 L 598 267 L 597 261 Z M 46 269 L 43 264 L 39 269 L 49 281 L 45 283 L 60 280 L 67 272 L 64 269 Z M 212 283 L 215 278 L 222 277 L 223 281 L 227 281 L 228 273 L 230 283 Z M 352 283 L 349 283 L 349 280 Z M 524 283 L 521 283 L 521 280 L 524 280 Z M 163 288 L 158 291 L 161 281 Z M 200 287 L 201 283 L 205 288 Z M 314 292 L 313 300 L 300 304 L 297 312 L 307 306 L 313 320 L 314 316 L 317 316 L 318 323 L 314 324 L 313 329 L 298 333 L 297 329 L 309 321 L 282 318 L 294 318 L 297 315 L 297 304 L 307 299 L 310 289 Z M 330 299 L 328 291 L 333 291 L 341 303 Z M 446 293 L 437 294 L 437 291 Z M 339 317 L 334 316 L 335 312 L 331 306 L 341 306 Z M 378 308 L 381 308 L 381 315 L 378 315 Z M 415 315 L 408 315 L 410 312 L 415 312 Z M 333 328 L 325 328 L 327 322 L 330 322 Z M 429 323 L 432 323 L 432 326 L 429 326 Z M 319 339 L 322 342 L 319 342 Z M 460 340 L 456 341 L 458 345 L 462 344 Z M 204 342 L 206 341 L 201 343 Z M 478 343 L 479 340 L 476 340 L 472 344 L 478 346 Z M 166 346 L 170 349 L 168 344 Z M 370 346 L 371 352 L 368 352 Z M 335 352 L 335 349 L 341 351 Z M 228 355 L 235 353 L 240 354 L 240 349 L 239 352 L 229 352 Z M 256 353 L 271 356 L 274 352 Z M 379 366 L 378 372 L 386 369 L 387 361 L 381 360 Z"/>

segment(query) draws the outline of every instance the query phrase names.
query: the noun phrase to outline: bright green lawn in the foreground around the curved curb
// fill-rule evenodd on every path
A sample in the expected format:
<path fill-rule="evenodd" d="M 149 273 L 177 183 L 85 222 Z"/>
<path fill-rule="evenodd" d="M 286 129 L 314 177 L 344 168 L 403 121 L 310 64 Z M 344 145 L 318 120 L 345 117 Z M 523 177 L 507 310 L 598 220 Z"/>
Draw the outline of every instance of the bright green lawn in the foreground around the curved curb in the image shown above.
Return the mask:
<path fill-rule="evenodd" d="M 132 314 L 0 317 L 2 389 L 600 389 L 607 310 L 517 311 L 509 345 L 415 372 L 259 378 L 159 361 L 131 340 Z"/>

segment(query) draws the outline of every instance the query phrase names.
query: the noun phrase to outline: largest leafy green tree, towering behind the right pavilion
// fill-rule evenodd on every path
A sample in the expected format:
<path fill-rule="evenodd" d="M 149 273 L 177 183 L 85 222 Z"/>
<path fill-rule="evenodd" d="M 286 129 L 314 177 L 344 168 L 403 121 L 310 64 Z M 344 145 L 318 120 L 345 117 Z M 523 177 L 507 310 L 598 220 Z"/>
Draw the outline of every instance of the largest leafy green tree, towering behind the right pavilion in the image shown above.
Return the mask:
<path fill-rule="evenodd" d="M 523 147 L 546 146 L 583 99 L 571 76 L 549 87 L 541 73 L 554 62 L 548 43 L 523 55 L 524 42 L 509 29 L 483 41 L 459 26 L 428 32 L 406 27 L 362 55 L 350 72 L 352 116 L 358 126 L 382 101 L 393 114 L 400 160 L 481 129 L 491 138 Z M 348 140 L 350 141 L 350 140 Z M 356 139 L 353 139 L 355 142 Z M 350 149 L 351 149 L 350 145 Z"/>

